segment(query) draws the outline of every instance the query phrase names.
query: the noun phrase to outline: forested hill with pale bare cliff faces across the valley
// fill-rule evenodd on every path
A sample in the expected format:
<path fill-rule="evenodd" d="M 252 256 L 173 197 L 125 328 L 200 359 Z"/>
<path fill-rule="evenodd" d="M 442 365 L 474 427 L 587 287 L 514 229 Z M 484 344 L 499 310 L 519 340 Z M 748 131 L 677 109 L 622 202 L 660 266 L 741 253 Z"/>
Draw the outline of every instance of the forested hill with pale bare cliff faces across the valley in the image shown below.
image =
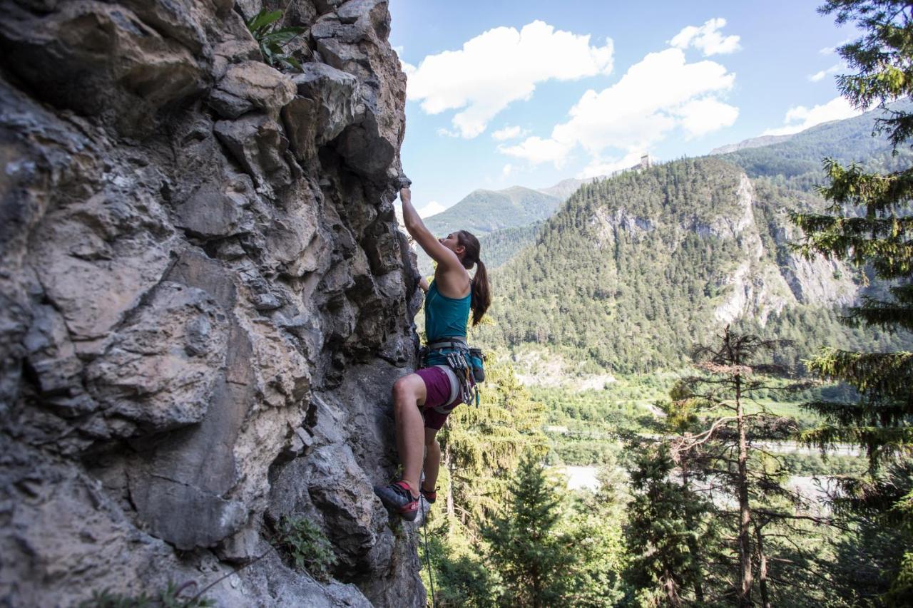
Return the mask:
<path fill-rule="evenodd" d="M 799 338 L 800 352 L 887 340 L 837 323 L 852 270 L 788 246 L 787 212 L 820 204 L 713 157 L 585 184 L 493 274 L 483 339 L 545 346 L 587 372 L 680 364 L 729 322 Z"/>

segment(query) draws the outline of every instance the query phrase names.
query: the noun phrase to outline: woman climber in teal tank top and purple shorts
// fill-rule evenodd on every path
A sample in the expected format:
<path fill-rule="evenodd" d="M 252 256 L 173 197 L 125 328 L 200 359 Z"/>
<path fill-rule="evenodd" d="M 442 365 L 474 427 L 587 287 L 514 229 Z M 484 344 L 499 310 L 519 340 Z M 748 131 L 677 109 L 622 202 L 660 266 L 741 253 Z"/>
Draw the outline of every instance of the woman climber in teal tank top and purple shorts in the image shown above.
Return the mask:
<path fill-rule="evenodd" d="M 374 487 L 386 508 L 407 521 L 415 520 L 419 498 L 436 498 L 441 447 L 435 435 L 456 405 L 468 399 L 467 322 L 470 310 L 475 326 L 491 303 L 485 265 L 478 258 L 478 239 L 465 230 L 436 239 L 412 205 L 408 187 L 400 190 L 403 220 L 409 234 L 437 262 L 430 287 L 425 278 L 425 336 L 428 340 L 422 367 L 394 383 L 396 449 L 403 464 L 403 477 L 389 486 Z M 468 269 L 476 265 L 476 275 Z M 453 368 L 457 368 L 456 371 Z M 461 374 L 462 377 L 458 377 Z M 469 385 L 471 386 L 471 384 Z M 422 470 L 424 483 L 419 486 Z"/>

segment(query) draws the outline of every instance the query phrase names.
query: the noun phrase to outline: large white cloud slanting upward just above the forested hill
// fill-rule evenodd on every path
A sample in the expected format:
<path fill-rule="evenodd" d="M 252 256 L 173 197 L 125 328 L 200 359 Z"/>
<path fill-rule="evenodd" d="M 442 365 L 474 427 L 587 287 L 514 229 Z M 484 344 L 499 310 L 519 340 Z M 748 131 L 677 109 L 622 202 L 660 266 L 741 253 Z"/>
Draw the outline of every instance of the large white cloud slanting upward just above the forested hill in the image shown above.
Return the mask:
<path fill-rule="evenodd" d="M 719 96 L 734 81 L 735 74 L 719 63 L 687 63 L 680 48 L 667 48 L 647 55 L 612 87 L 586 91 L 569 111 L 570 120 L 556 125 L 549 139 L 533 136 L 498 149 L 534 164 L 554 162 L 556 167 L 578 145 L 597 159 L 606 149 L 618 149 L 625 158 L 636 153 L 639 158 L 676 128 L 697 137 L 731 125 L 739 109 Z"/>

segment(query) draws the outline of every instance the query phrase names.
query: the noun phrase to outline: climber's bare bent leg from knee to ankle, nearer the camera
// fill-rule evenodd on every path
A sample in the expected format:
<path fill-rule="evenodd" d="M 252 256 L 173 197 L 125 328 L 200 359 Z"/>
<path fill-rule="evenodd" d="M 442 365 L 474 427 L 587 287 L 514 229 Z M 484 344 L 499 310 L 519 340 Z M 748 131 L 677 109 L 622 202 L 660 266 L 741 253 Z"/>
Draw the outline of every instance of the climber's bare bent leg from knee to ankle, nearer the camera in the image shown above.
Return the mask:
<path fill-rule="evenodd" d="M 410 373 L 394 383 L 393 397 L 396 449 L 403 463 L 403 481 L 412 489 L 413 498 L 417 498 L 425 451 L 425 420 L 418 406 L 425 404 L 425 381 Z"/>

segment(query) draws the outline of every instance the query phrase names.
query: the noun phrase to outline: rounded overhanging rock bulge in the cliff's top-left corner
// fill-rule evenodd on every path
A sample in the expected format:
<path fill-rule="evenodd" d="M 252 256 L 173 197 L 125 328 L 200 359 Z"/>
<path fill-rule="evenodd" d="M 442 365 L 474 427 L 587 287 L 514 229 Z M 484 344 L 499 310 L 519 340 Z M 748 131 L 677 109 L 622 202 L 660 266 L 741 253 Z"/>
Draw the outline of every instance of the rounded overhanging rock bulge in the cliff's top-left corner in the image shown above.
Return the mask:
<path fill-rule="evenodd" d="M 156 17 L 152 23 L 124 6 L 89 0 L 56 8 L 37 15 L 12 5 L 0 25 L 6 65 L 55 106 L 87 116 L 100 112 L 122 132 L 144 134 L 154 128 L 158 110 L 204 89 L 194 52 L 208 45 L 188 7 L 171 19 L 167 9 L 147 8 L 142 12 Z M 171 26 L 163 36 L 158 27 L 166 21 Z"/>

